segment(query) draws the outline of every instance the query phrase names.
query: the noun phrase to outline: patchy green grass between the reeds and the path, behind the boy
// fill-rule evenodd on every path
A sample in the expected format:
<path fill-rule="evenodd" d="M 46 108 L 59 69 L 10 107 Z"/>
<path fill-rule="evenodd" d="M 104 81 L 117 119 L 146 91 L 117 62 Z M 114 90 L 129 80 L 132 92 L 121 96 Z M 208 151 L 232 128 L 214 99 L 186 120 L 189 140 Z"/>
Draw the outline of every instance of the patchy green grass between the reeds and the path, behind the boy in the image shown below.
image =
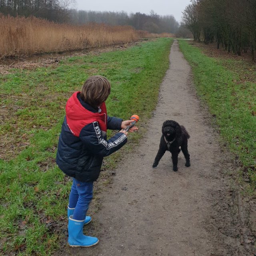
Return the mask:
<path fill-rule="evenodd" d="M 108 114 L 124 119 L 138 114 L 143 124 L 156 106 L 171 44 L 162 38 L 0 77 L 2 254 L 51 255 L 66 231 L 71 183 L 55 164 L 66 100 L 88 76 L 100 74 L 112 84 Z M 131 134 L 130 144 L 139 138 Z M 106 158 L 104 169 L 114 168 L 120 154 Z M 99 183 L 108 182 L 107 173 L 96 182 L 96 193 Z"/>

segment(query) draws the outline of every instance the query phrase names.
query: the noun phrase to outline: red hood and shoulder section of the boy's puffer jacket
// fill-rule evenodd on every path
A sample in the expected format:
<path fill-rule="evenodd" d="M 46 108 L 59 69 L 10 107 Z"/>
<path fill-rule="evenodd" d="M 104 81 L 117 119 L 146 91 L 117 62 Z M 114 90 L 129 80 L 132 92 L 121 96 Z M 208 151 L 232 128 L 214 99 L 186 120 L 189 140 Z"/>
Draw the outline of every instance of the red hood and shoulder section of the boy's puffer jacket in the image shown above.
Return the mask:
<path fill-rule="evenodd" d="M 82 106 L 77 98 L 79 93 L 74 92 L 66 104 L 66 120 L 71 132 L 79 137 L 82 128 L 95 121 L 100 124 L 101 130 L 106 132 L 107 111 L 105 102 L 100 106 L 102 110 L 100 113 L 93 113 Z"/>

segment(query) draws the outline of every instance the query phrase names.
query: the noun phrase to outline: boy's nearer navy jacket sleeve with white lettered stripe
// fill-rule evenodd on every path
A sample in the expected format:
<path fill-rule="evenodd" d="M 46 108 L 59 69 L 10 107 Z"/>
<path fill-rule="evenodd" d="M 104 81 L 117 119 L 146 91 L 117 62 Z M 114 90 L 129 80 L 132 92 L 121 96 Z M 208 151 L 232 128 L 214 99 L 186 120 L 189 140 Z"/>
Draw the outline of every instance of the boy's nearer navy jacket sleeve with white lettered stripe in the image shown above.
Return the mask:
<path fill-rule="evenodd" d="M 84 126 L 79 138 L 84 142 L 85 148 L 91 153 L 99 156 L 108 156 L 120 149 L 127 142 L 127 136 L 118 132 L 109 140 L 105 140 L 98 122 Z"/>

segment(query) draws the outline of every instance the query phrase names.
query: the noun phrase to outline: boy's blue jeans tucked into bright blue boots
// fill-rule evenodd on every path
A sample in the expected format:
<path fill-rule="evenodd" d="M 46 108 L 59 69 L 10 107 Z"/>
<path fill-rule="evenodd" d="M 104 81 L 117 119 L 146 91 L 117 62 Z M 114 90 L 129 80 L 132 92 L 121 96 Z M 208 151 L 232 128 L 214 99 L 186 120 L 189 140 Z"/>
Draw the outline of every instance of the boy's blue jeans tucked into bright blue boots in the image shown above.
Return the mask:
<path fill-rule="evenodd" d="M 75 208 L 73 219 L 84 220 L 92 200 L 93 182 L 81 182 L 73 178 L 69 195 L 69 207 Z"/>

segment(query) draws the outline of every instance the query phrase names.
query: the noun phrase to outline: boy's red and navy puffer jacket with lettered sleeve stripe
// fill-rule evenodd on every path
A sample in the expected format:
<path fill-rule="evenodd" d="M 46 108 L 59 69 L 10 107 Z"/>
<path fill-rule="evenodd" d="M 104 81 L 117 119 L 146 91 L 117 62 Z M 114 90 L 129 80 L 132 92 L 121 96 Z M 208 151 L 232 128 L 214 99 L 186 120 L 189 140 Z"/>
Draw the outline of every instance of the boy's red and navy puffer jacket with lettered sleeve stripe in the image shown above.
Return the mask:
<path fill-rule="evenodd" d="M 92 108 L 75 92 L 67 101 L 58 142 L 56 163 L 68 176 L 81 182 L 97 180 L 104 156 L 120 149 L 127 136 L 118 132 L 107 140 L 106 130 L 121 130 L 122 119 L 107 116 L 103 103 Z"/>

